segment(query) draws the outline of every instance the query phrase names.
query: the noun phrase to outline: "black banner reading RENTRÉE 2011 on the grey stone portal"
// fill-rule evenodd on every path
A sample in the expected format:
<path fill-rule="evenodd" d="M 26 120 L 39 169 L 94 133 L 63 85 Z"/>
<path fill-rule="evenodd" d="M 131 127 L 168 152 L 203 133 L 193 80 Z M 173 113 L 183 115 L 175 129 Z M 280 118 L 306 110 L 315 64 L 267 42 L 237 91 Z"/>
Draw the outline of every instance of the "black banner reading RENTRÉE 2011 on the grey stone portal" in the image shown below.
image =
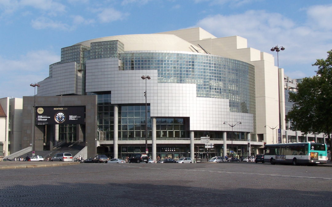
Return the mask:
<path fill-rule="evenodd" d="M 84 124 L 84 106 L 37 106 L 36 124 Z"/>

